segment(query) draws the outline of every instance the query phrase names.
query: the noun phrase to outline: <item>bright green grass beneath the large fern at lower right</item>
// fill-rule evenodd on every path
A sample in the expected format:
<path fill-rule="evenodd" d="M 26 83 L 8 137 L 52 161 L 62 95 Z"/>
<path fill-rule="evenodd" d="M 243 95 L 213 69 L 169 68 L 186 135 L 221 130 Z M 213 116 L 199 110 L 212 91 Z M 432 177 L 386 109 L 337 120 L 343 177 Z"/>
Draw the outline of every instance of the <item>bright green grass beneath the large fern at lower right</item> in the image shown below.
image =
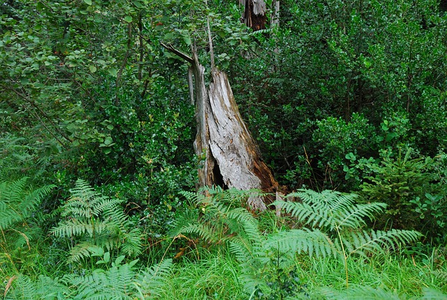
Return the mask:
<path fill-rule="evenodd" d="M 309 257 L 300 257 L 297 262 L 305 278 L 309 290 L 318 290 L 321 287 L 332 287 L 335 290 L 345 290 L 344 265 L 342 262 L 324 258 L 315 260 Z M 365 260 L 349 260 L 349 286 L 369 286 L 408 297 L 420 297 L 423 287 L 441 289 L 447 292 L 446 282 L 437 278 L 430 265 L 411 257 L 388 255 Z M 438 266 L 439 270 L 447 271 L 446 266 Z M 312 275 L 309 275 L 312 274 Z M 447 297 L 447 296 L 446 296 Z"/>

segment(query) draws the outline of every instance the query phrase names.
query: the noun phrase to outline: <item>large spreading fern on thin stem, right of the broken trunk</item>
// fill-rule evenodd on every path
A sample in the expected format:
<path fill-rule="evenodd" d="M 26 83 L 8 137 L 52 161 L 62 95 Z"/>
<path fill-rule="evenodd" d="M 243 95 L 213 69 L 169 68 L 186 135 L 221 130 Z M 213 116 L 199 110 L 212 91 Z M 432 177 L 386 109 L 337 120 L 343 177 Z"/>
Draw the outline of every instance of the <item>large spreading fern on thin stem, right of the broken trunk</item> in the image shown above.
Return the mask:
<path fill-rule="evenodd" d="M 287 196 L 300 202 L 274 202 L 286 213 L 291 213 L 298 222 L 309 228 L 279 232 L 268 238 L 268 248 L 281 253 L 309 253 L 315 256 L 332 256 L 342 259 L 346 271 L 346 286 L 349 283 L 349 257 L 384 253 L 398 250 L 401 246 L 420 239 L 413 230 L 371 230 L 365 218 L 374 220 L 374 214 L 386 208 L 383 203 L 356 203 L 357 195 L 332 190 L 317 193 L 313 190 L 298 190 Z"/>

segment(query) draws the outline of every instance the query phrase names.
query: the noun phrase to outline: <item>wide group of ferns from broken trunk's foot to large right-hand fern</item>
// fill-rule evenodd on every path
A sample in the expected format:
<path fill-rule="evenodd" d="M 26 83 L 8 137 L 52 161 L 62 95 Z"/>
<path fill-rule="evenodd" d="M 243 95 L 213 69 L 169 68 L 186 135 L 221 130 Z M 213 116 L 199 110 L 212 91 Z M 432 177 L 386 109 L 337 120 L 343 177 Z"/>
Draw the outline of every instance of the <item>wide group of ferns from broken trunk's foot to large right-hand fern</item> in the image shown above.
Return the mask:
<path fill-rule="evenodd" d="M 341 259 L 348 285 L 349 257 L 367 258 L 420 238 L 415 231 L 367 229 L 364 218 L 374 219 L 374 213 L 383 211 L 386 204 L 356 204 L 356 195 L 331 190 L 298 190 L 285 199 L 294 197 L 300 202 L 274 202 L 308 227 L 265 234 L 260 231 L 258 220 L 240 206 L 251 193 L 258 192 L 209 188 L 200 193 L 183 193 L 200 213 L 178 218 L 173 231 L 173 237 L 193 235 L 213 245 L 228 245 L 240 262 L 241 279 L 251 297 L 258 291 L 272 294 L 272 270 L 293 270 L 297 254 Z"/>

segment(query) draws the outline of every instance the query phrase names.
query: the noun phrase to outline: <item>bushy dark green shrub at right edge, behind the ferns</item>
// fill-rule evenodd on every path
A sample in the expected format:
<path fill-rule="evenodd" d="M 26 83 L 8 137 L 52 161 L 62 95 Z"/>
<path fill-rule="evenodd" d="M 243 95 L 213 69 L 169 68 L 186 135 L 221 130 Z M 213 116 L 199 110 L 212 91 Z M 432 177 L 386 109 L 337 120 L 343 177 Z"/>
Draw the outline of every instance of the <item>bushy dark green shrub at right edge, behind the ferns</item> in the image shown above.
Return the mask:
<path fill-rule="evenodd" d="M 357 165 L 369 175 L 360 186 L 366 201 L 388 204 L 378 226 L 416 229 L 427 237 L 443 236 L 447 203 L 445 175 L 436 172 L 445 162 L 433 158 L 411 158 L 413 149 L 383 151 L 381 161 L 359 160 Z M 444 167 L 442 167 L 444 165 Z M 440 168 L 440 169 L 439 169 Z M 427 216 L 427 218 L 426 218 Z"/>

